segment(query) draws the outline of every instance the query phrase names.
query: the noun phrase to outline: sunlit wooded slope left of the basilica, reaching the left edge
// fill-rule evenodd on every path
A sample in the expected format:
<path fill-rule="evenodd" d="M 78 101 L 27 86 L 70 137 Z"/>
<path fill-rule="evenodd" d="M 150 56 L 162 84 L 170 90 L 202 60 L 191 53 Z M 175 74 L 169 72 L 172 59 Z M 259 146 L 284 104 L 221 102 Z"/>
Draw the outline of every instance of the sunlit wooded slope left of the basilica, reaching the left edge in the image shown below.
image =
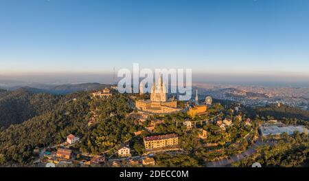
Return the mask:
<path fill-rule="evenodd" d="M 40 95 L 35 97 L 40 98 Z M 115 94 L 106 99 L 92 99 L 89 92 L 62 96 L 54 109 L 0 132 L 0 165 L 30 165 L 36 147 L 57 145 L 64 142 L 69 134 L 82 138 L 76 149 L 83 152 L 103 153 L 117 147 L 133 138 L 138 129 L 133 124 L 135 120 L 128 117 L 128 113 L 133 111 L 129 101 L 125 94 Z M 98 123 L 89 127 L 91 110 L 98 115 Z"/>

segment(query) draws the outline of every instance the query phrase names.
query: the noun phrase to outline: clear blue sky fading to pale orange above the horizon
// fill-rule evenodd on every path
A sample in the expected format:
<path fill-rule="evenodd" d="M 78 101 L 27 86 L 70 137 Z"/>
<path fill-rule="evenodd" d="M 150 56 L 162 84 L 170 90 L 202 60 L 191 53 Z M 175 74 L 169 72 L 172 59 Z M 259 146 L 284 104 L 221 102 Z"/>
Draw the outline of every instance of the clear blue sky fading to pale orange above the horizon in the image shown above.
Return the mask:
<path fill-rule="evenodd" d="M 1 0 L 0 74 L 184 67 L 308 76 L 307 0 Z"/>

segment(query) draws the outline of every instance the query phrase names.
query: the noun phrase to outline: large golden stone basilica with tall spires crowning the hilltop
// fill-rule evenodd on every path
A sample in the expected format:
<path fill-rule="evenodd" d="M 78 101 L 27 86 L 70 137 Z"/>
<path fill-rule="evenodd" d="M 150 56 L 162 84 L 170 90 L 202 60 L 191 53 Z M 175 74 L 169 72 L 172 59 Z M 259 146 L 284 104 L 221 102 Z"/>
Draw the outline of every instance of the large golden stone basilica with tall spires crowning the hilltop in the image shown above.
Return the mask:
<path fill-rule="evenodd" d="M 140 94 L 144 93 L 144 85 L 140 85 Z M 158 83 L 153 83 L 151 87 L 150 100 L 136 100 L 135 107 L 139 112 L 150 114 L 170 114 L 176 111 L 181 111 L 177 107 L 177 100 L 174 98 L 168 99 L 166 87 L 162 77 L 159 76 Z"/>

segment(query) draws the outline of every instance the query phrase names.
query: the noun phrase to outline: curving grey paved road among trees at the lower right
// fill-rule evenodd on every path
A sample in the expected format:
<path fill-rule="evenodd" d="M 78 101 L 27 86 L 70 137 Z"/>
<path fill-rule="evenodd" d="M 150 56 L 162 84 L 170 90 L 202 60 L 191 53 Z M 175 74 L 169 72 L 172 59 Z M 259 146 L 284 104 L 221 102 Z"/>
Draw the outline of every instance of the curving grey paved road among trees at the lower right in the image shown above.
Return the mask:
<path fill-rule="evenodd" d="M 265 142 L 264 142 L 265 143 Z M 220 161 L 216 161 L 216 162 L 208 162 L 206 164 L 206 167 L 227 167 L 229 166 L 232 162 L 237 162 L 238 160 L 242 160 L 248 156 L 251 156 L 252 153 L 255 152 L 255 149 L 259 146 L 262 145 L 262 138 L 259 138 L 253 145 L 251 145 L 251 147 L 249 149 L 247 149 L 246 151 L 238 154 L 238 155 L 234 155 L 231 156 L 230 158 L 225 158 L 223 160 Z"/>

